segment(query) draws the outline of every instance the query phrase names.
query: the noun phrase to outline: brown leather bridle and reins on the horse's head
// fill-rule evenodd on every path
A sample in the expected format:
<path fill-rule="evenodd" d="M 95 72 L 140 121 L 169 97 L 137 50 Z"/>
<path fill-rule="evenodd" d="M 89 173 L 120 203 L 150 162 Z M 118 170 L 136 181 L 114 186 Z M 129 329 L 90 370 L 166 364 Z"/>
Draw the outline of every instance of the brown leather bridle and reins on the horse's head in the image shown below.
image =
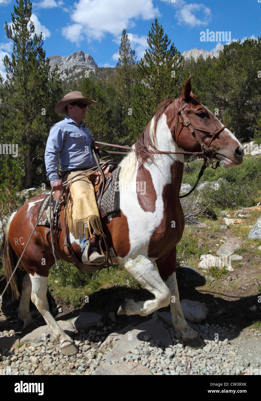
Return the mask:
<path fill-rule="evenodd" d="M 191 192 L 194 191 L 194 189 L 198 185 L 198 182 L 199 182 L 200 178 L 202 177 L 202 175 L 204 173 L 204 170 L 206 168 L 207 160 L 208 160 L 209 165 L 210 165 L 211 168 L 216 169 L 219 166 L 219 161 L 217 161 L 216 165 L 213 166 L 211 158 L 216 154 L 216 152 L 213 152 L 209 148 L 209 146 L 210 146 L 212 140 L 214 138 L 216 138 L 216 136 L 220 132 L 222 132 L 226 128 L 226 126 L 223 126 L 223 127 L 219 128 L 216 131 L 207 131 L 207 130 L 203 130 L 202 128 L 193 127 L 191 122 L 190 122 L 190 120 L 186 116 L 186 113 L 184 112 L 184 109 L 188 106 L 188 103 L 184 103 L 179 108 L 178 107 L 178 99 L 175 99 L 174 100 L 174 106 L 176 108 L 176 124 L 175 124 L 175 129 L 174 129 L 174 139 L 175 139 L 176 144 L 178 145 L 178 137 L 180 136 L 180 132 L 182 131 L 182 129 L 184 127 L 188 127 L 188 129 L 190 130 L 191 134 L 194 136 L 194 138 L 196 138 L 196 140 L 200 144 L 202 152 L 168 152 L 168 151 L 165 152 L 163 150 L 158 150 L 157 153 L 159 153 L 159 154 L 183 154 L 184 156 L 196 156 L 196 157 L 200 157 L 200 158 L 204 159 L 204 164 L 202 165 L 202 167 L 200 169 L 200 172 L 198 174 L 198 178 L 196 179 L 196 182 L 195 182 L 193 188 L 187 194 L 179 196 L 179 198 L 184 198 L 185 196 L 188 196 L 189 194 L 191 194 Z M 177 133 L 178 122 L 180 122 L 180 129 L 179 129 L 179 131 Z M 207 134 L 212 134 L 207 146 L 204 144 L 204 142 L 202 141 L 200 136 L 196 133 L 196 131 L 202 131 L 202 132 L 206 132 Z M 105 142 L 98 142 L 98 141 L 95 141 L 95 143 L 101 144 L 101 145 L 115 146 L 116 148 L 122 148 L 122 149 L 127 149 L 127 150 L 134 150 L 133 148 L 131 148 L 129 146 L 106 144 Z M 108 151 L 108 150 L 105 150 L 105 152 L 107 152 L 107 153 L 117 153 L 117 154 L 125 154 L 126 153 L 126 152 L 112 152 L 112 151 Z"/>

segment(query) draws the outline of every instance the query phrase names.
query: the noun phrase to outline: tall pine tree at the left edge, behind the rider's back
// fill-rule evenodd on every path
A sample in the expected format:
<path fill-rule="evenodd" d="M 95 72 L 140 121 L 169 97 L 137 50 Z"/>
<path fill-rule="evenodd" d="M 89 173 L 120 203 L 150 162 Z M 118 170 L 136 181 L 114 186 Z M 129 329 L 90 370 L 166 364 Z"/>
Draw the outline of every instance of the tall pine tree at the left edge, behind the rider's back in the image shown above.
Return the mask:
<path fill-rule="evenodd" d="M 61 98 L 61 82 L 57 70 L 50 74 L 45 60 L 42 33 L 34 34 L 30 21 L 32 3 L 16 0 L 12 26 L 5 24 L 6 36 L 14 42 L 12 59 L 6 55 L 6 81 L 0 77 L 0 101 L 4 115 L 4 136 L 19 148 L 19 164 L 24 172 L 24 186 L 45 176 L 43 154 L 48 131 L 59 120 L 54 106 Z M 33 159 L 35 160 L 32 168 Z M 38 163 L 38 168 L 36 167 Z M 33 172 L 33 173 L 32 173 Z"/>

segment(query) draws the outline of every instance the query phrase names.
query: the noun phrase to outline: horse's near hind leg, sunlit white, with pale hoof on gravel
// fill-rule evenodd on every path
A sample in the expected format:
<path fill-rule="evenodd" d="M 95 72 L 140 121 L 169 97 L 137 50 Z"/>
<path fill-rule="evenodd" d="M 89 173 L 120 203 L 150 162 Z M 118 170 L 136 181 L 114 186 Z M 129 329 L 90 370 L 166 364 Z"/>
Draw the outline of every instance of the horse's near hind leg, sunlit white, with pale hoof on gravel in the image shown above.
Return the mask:
<path fill-rule="evenodd" d="M 30 274 L 32 282 L 32 294 L 31 300 L 43 316 L 55 339 L 59 342 L 61 352 L 64 355 L 75 355 L 78 352 L 78 348 L 74 345 L 73 340 L 69 337 L 63 329 L 56 322 L 55 318 L 49 311 L 49 304 L 47 301 L 47 283 L 48 277 L 43 277 L 37 273 L 34 275 Z"/>

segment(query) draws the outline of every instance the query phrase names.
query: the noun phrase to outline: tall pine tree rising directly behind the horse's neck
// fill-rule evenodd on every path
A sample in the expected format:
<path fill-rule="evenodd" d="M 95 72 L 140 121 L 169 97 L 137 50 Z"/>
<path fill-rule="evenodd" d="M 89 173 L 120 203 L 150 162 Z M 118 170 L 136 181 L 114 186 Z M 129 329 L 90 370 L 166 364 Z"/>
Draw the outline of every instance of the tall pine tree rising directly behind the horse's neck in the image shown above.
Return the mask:
<path fill-rule="evenodd" d="M 128 128 L 134 139 L 144 130 L 162 101 L 178 97 L 183 81 L 180 52 L 174 43 L 170 45 L 157 18 L 152 22 L 147 43 L 144 59 L 137 67 L 132 115 L 128 117 Z"/>

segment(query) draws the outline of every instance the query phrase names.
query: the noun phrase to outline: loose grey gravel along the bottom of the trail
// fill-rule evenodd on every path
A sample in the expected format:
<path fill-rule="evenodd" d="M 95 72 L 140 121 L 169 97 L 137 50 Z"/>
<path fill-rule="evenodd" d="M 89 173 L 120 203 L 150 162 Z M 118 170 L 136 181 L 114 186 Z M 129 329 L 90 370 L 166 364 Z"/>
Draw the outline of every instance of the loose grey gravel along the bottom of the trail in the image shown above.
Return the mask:
<path fill-rule="evenodd" d="M 23 345 L 20 348 L 12 347 L 10 350 L 0 350 L 0 374 L 13 375 L 91 375 L 93 371 L 104 363 L 111 348 L 105 353 L 98 351 L 102 340 L 108 333 L 113 332 L 113 326 L 99 327 L 92 330 L 81 330 L 76 333 L 74 340 L 79 346 L 79 353 L 75 356 L 64 356 L 56 341 L 41 341 L 33 345 Z M 235 337 L 235 326 L 219 327 L 208 323 L 200 326 L 199 334 L 205 338 L 206 346 L 193 350 L 182 346 L 178 333 L 174 328 L 170 330 L 173 345 L 162 349 L 160 344 L 149 336 L 136 347 L 134 353 L 127 350 L 126 356 L 109 363 L 115 364 L 123 361 L 132 361 L 146 366 L 154 375 L 242 375 L 249 373 L 246 369 L 253 369 L 253 375 L 261 374 L 260 354 L 254 349 L 247 352 L 246 346 L 231 344 L 229 338 Z M 115 329 L 114 329 L 115 330 Z M 218 338 L 216 334 L 218 334 Z M 1 336 L 14 336 L 14 330 L 1 332 Z M 232 335 L 232 337 L 230 337 Z M 256 345 L 260 344 L 261 333 L 252 330 L 249 334 Z M 208 339 L 206 339 L 208 338 Z M 209 340 L 213 338 L 213 340 Z M 214 339 L 216 338 L 216 339 Z M 155 342 L 154 342 L 155 341 Z"/>

